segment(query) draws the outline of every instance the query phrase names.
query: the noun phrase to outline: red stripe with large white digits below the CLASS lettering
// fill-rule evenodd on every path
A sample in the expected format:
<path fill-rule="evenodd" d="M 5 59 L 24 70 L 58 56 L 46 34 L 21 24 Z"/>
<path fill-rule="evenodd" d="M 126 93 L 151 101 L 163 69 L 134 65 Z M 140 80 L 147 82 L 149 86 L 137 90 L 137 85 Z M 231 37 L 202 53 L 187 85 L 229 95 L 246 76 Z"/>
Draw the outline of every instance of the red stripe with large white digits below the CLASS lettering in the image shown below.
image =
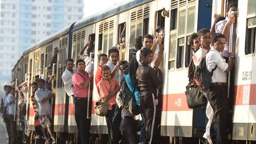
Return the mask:
<path fill-rule="evenodd" d="M 256 84 L 235 85 L 235 105 L 256 105 Z"/>

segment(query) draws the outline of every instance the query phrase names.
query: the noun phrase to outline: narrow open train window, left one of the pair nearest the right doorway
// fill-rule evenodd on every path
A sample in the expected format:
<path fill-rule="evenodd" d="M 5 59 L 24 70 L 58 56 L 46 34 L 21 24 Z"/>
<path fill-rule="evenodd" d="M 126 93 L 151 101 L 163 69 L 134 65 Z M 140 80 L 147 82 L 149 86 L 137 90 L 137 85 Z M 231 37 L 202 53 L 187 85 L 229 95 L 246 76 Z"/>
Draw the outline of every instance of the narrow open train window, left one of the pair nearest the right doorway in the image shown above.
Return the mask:
<path fill-rule="evenodd" d="M 184 37 L 181 39 L 178 39 L 177 62 L 176 62 L 177 69 L 183 67 L 183 53 L 184 53 Z"/>

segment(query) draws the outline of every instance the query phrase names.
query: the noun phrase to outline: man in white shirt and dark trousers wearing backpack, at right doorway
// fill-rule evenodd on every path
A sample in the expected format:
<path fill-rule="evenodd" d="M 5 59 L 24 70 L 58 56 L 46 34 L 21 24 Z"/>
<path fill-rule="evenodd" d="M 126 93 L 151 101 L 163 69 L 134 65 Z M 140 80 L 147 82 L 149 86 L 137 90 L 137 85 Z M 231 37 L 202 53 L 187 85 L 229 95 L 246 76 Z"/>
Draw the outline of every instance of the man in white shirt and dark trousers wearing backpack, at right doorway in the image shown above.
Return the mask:
<path fill-rule="evenodd" d="M 214 126 L 217 136 L 216 139 L 211 137 L 213 142 L 217 143 L 228 143 L 226 124 L 228 116 L 228 84 L 226 73 L 231 71 L 234 64 L 234 53 L 228 53 L 230 60 L 226 63 L 222 57 L 222 53 L 225 47 L 225 36 L 223 34 L 214 34 L 212 36 L 213 47 L 211 47 L 209 53 L 206 55 L 206 66 L 209 72 L 212 69 L 217 68 L 213 71 L 212 75 L 212 86 L 210 87 L 209 95 L 207 99 L 213 108 L 214 116 L 213 121 L 215 125 L 211 125 L 211 129 Z"/>

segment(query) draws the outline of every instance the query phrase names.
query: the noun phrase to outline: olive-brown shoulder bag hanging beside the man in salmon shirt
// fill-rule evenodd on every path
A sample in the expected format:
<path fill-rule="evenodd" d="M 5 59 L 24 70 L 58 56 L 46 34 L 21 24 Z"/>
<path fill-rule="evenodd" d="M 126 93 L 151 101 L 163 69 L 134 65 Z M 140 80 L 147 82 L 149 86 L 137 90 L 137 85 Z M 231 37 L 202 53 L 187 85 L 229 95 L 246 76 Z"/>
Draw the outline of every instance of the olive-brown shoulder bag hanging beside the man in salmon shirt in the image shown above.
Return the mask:
<path fill-rule="evenodd" d="M 104 117 L 107 115 L 107 108 L 108 108 L 107 98 L 101 98 L 99 101 L 96 102 L 95 105 L 96 106 L 94 107 L 94 110 L 98 116 Z"/>

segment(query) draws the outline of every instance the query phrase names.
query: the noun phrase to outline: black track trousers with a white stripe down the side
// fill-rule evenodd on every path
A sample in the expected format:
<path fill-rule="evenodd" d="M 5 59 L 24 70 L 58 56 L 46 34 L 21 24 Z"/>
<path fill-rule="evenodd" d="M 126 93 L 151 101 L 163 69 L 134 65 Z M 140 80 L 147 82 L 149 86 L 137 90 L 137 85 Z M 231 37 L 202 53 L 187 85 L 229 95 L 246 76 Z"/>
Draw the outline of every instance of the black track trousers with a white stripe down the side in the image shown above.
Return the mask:
<path fill-rule="evenodd" d="M 146 143 L 156 143 L 157 125 L 156 106 L 154 105 L 154 95 L 140 95 L 140 108 L 146 121 Z"/>

